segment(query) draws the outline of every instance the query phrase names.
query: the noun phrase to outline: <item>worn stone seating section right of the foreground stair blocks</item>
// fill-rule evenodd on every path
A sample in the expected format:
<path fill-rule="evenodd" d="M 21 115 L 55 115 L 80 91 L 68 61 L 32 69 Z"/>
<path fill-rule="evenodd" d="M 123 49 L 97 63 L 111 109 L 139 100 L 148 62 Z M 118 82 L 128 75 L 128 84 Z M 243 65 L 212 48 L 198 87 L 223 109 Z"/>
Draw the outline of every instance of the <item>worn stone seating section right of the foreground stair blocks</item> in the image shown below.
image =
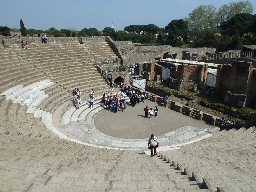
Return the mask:
<path fill-rule="evenodd" d="M 216 130 L 213 137 L 160 153 L 211 191 L 256 191 L 255 130 Z"/>

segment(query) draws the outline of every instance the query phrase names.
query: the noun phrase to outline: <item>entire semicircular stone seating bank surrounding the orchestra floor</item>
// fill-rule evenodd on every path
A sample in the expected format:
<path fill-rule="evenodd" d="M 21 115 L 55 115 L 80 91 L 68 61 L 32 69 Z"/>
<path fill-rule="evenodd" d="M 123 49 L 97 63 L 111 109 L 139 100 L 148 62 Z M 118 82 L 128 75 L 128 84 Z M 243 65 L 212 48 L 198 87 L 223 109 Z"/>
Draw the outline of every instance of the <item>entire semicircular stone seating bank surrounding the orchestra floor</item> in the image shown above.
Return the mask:
<path fill-rule="evenodd" d="M 203 130 L 181 143 L 159 148 L 158 155 L 163 159 L 145 155 L 145 139 L 138 141 L 143 146 L 133 143 L 133 148 L 131 144 L 118 147 L 123 142 L 119 139 L 112 139 L 115 145 L 107 145 L 110 138 L 95 130 L 93 119 L 103 110 L 98 95 L 111 88 L 94 66 L 94 52 L 87 48 L 94 44 L 100 48 L 104 41 L 91 43 L 55 42 L 30 44 L 27 50 L 20 45 L 0 49 L 1 190 L 256 189 L 255 127 Z M 102 55 L 96 58 L 105 58 Z M 80 88 L 82 96 L 95 90 L 94 109 L 88 108 L 88 101 L 83 101 L 80 110 L 72 107 L 74 87 Z M 53 115 L 62 117 L 58 128 Z M 95 133 L 98 138 L 94 141 L 79 138 Z"/>

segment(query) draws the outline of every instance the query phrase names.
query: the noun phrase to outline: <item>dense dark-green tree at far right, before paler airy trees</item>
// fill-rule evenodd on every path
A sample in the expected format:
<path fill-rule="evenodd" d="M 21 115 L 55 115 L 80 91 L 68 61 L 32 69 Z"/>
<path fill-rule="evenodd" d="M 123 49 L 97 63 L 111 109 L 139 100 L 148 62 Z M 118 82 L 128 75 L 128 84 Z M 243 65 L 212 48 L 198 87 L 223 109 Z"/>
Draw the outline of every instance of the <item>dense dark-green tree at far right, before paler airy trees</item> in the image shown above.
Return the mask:
<path fill-rule="evenodd" d="M 228 21 L 220 24 L 222 35 L 239 35 L 241 38 L 245 33 L 253 31 L 256 15 L 248 13 L 237 14 Z"/>

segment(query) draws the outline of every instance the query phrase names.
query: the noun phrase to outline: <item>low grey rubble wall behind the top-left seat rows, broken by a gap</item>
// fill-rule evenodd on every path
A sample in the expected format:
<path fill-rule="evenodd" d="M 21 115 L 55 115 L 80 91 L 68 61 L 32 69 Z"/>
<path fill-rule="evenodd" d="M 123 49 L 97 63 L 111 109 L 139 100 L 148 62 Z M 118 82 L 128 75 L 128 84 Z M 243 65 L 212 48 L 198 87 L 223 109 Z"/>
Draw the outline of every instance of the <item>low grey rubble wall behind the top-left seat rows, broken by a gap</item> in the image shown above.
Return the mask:
<path fill-rule="evenodd" d="M 4 45 L 13 45 L 13 44 L 20 44 L 21 39 L 23 42 L 30 43 L 42 43 L 41 37 L 20 37 L 20 38 L 11 38 L 11 39 L 4 39 Z M 78 42 L 77 37 L 47 37 L 49 43 L 51 42 Z"/>

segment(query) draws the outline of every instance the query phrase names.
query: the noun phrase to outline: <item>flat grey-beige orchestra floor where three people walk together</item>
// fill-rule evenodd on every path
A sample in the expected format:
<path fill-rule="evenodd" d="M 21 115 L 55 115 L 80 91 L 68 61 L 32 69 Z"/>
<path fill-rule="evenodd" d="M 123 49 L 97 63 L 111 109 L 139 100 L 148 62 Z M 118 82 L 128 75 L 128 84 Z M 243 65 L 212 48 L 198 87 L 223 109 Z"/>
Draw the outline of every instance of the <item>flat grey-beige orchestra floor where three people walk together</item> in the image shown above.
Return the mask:
<path fill-rule="evenodd" d="M 148 118 L 145 118 L 143 108 L 146 106 L 149 109 L 151 107 L 153 110 L 155 109 L 155 104 L 147 100 L 144 103 L 136 104 L 135 107 L 132 107 L 130 103 L 126 104 L 126 110 L 123 112 L 120 108 L 118 108 L 117 113 L 101 110 L 94 119 L 95 127 L 106 135 L 126 139 L 148 138 L 151 134 L 160 136 L 185 126 L 194 127 L 190 131 L 202 131 L 212 127 L 202 121 L 161 106 L 158 106 L 157 117 L 153 113 L 152 119 L 149 119 L 149 115 Z M 174 135 L 175 137 L 177 135 Z"/>

